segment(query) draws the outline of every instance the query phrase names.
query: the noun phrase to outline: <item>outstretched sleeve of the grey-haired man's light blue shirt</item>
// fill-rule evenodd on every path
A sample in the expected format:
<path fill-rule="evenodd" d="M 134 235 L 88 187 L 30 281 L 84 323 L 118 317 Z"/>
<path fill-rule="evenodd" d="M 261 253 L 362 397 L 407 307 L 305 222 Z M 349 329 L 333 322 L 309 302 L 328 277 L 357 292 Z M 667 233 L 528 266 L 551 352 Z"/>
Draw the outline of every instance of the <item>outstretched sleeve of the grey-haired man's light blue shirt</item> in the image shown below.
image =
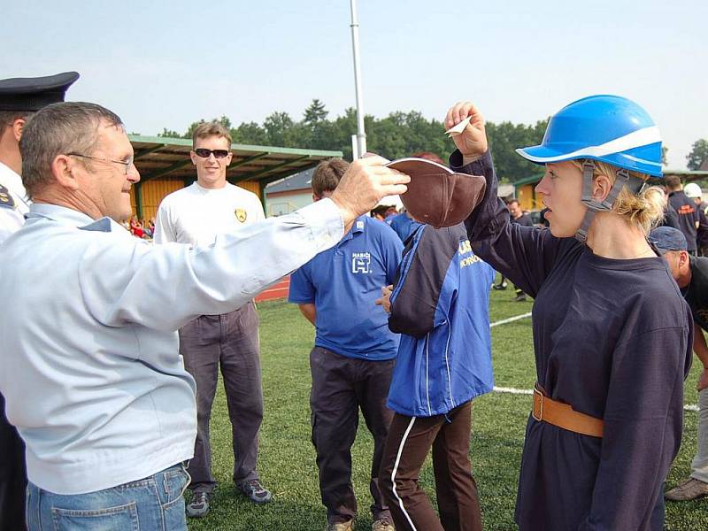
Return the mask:
<path fill-rule="evenodd" d="M 200 315 L 232 312 L 342 238 L 329 200 L 266 219 L 208 247 L 126 244 L 114 236 L 83 251 L 79 278 L 89 312 L 102 324 L 176 330 Z M 109 235 L 107 235 L 109 236 Z"/>

